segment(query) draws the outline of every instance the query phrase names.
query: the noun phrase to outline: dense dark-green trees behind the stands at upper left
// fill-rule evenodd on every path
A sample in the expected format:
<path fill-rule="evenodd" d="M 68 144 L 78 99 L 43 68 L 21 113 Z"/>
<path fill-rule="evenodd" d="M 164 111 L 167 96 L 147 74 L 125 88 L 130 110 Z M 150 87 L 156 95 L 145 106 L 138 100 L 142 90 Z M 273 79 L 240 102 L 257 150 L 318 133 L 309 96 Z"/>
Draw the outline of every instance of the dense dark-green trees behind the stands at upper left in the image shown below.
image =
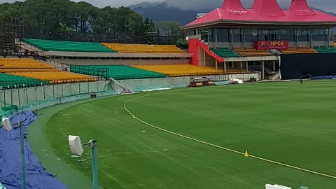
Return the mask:
<path fill-rule="evenodd" d="M 0 22 L 13 22 L 13 19 L 15 22 L 20 20 L 25 27 L 38 28 L 50 34 L 76 32 L 115 38 L 142 36 L 147 39 L 146 43 L 155 43 L 151 39 L 160 36 L 162 31 L 153 20 L 142 18 L 130 8 L 97 8 L 83 1 L 27 0 L 0 4 Z M 179 35 L 179 32 L 174 33 L 176 40 L 181 37 Z"/>

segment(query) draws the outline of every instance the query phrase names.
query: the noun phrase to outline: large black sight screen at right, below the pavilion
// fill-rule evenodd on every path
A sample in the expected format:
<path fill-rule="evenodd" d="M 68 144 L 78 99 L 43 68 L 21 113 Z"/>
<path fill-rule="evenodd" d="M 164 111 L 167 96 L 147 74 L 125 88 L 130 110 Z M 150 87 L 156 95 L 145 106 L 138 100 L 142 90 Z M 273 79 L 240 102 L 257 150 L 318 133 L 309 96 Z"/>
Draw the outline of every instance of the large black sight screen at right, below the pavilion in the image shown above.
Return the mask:
<path fill-rule="evenodd" d="M 304 55 L 281 55 L 281 79 L 297 79 L 300 76 L 335 76 L 336 53 L 318 53 Z"/>

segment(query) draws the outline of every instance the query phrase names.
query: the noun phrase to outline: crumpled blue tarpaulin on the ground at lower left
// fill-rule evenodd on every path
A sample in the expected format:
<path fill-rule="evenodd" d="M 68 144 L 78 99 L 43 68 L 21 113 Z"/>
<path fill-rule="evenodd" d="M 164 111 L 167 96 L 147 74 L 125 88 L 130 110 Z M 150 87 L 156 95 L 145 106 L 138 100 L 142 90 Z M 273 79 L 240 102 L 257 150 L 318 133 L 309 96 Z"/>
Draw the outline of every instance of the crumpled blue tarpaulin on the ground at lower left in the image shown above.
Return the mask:
<path fill-rule="evenodd" d="M 7 189 L 22 188 L 22 169 L 20 151 L 20 128 L 15 128 L 15 123 L 22 121 L 25 136 L 25 166 L 27 188 L 29 189 L 65 189 L 55 176 L 45 171 L 41 162 L 31 151 L 27 141 L 27 127 L 36 120 L 36 115 L 31 111 L 24 111 L 14 116 L 10 123 L 13 130 L 10 132 L 0 129 L 0 181 Z"/>

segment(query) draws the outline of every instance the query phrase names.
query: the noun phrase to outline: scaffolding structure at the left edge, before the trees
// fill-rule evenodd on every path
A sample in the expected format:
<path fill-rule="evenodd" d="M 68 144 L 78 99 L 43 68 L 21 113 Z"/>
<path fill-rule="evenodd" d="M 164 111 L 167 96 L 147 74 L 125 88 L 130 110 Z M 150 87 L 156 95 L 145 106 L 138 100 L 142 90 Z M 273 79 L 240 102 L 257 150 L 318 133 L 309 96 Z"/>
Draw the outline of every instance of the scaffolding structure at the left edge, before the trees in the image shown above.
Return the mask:
<path fill-rule="evenodd" d="M 24 26 L 20 19 L 12 18 L 10 22 L 0 22 L 0 55 L 17 55 L 19 41 L 24 36 Z"/>

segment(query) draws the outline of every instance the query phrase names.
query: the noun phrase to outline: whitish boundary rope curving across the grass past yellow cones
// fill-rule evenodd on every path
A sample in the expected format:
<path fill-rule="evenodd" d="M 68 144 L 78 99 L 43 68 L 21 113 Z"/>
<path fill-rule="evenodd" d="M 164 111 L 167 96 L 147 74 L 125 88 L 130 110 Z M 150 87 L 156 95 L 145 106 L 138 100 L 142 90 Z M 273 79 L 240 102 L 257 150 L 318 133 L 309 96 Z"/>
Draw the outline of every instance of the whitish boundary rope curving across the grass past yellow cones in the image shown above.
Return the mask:
<path fill-rule="evenodd" d="M 188 89 L 184 89 L 184 90 L 188 90 Z M 208 145 L 208 146 L 213 146 L 213 147 L 215 147 L 215 148 L 220 148 L 220 149 L 222 149 L 222 150 L 230 151 L 230 152 L 232 152 L 232 153 L 237 153 L 237 154 L 239 154 L 239 155 L 245 155 L 245 153 L 241 153 L 241 152 L 239 152 L 239 151 L 235 151 L 235 150 L 232 150 L 232 149 L 230 149 L 230 148 L 225 148 L 225 147 L 223 147 L 223 146 L 218 146 L 218 145 L 216 145 L 216 144 L 211 144 L 211 143 L 209 143 L 209 142 L 202 141 L 202 140 L 199 140 L 199 139 L 195 139 L 195 138 L 192 138 L 192 137 L 188 137 L 188 136 L 185 136 L 185 135 L 183 135 L 183 134 L 178 134 L 178 133 L 176 133 L 176 132 L 171 132 L 171 131 L 169 131 L 169 130 L 162 129 L 161 127 L 152 125 L 151 123 L 147 123 L 146 121 L 141 120 L 140 118 L 137 118 L 136 116 L 134 116 L 134 114 L 133 114 L 131 111 L 129 111 L 129 110 L 127 109 L 127 106 L 126 106 L 129 102 L 132 102 L 132 101 L 134 101 L 135 99 L 140 99 L 140 98 L 144 98 L 144 97 L 149 97 L 149 96 L 153 96 L 153 95 L 156 95 L 156 94 L 162 94 L 162 93 L 168 93 L 168 92 L 179 92 L 179 91 L 183 91 L 183 90 L 169 90 L 169 91 L 165 91 L 165 92 L 158 92 L 158 93 L 153 93 L 153 94 L 147 94 L 147 95 L 140 96 L 140 97 L 135 97 L 135 98 L 133 98 L 133 99 L 129 99 L 129 100 L 127 100 L 127 102 L 124 103 L 124 109 L 125 109 L 125 111 L 127 111 L 127 113 L 130 113 L 130 115 L 132 116 L 132 118 L 138 120 L 138 121 L 141 122 L 141 123 L 144 123 L 145 125 L 148 125 L 149 127 L 153 127 L 153 128 L 155 128 L 155 129 L 157 129 L 157 130 L 160 130 L 160 131 L 162 131 L 162 132 L 167 132 L 167 133 L 169 133 L 169 134 L 174 134 L 174 135 L 177 136 L 177 137 L 181 137 L 181 138 L 184 138 L 184 139 L 189 139 L 189 140 L 191 140 L 191 141 L 196 141 L 196 142 L 201 143 L 201 144 L 205 144 L 205 145 Z M 308 173 L 316 174 L 316 175 L 319 175 L 319 176 L 325 176 L 325 177 L 328 177 L 328 178 L 330 178 L 330 179 L 336 179 L 336 176 L 332 176 L 332 175 L 328 175 L 328 174 L 323 174 L 323 173 L 320 173 L 320 172 L 314 172 L 314 171 L 311 171 L 311 170 L 309 170 L 309 169 L 303 169 L 303 168 L 300 168 L 300 167 L 295 167 L 295 166 L 293 166 L 293 165 L 287 165 L 287 164 L 284 164 L 284 163 L 281 163 L 281 162 L 276 162 L 276 161 L 273 161 L 273 160 L 267 160 L 267 159 L 265 159 L 265 158 L 260 158 L 260 157 L 255 156 L 255 155 L 249 155 L 249 157 L 250 157 L 250 158 L 257 159 L 257 160 L 262 160 L 262 161 L 264 161 L 264 162 L 269 162 L 269 163 L 272 163 L 272 164 L 281 165 L 281 166 L 283 166 L 283 167 L 289 167 L 289 168 L 292 168 L 292 169 L 297 169 L 297 170 L 300 170 L 300 171 L 302 171 L 302 172 L 308 172 Z"/>

